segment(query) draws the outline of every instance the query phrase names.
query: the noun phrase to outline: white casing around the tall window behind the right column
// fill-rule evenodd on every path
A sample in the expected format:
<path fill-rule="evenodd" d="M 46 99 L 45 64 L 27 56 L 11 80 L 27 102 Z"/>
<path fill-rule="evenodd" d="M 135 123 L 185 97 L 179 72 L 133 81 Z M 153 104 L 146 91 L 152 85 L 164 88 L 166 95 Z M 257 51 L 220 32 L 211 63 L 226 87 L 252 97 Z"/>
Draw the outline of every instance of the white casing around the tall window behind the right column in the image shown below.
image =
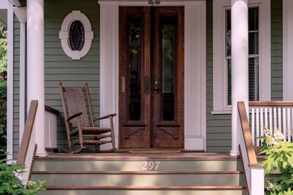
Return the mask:
<path fill-rule="evenodd" d="M 249 0 L 259 7 L 259 83 L 260 101 L 270 101 L 270 0 Z M 213 0 L 213 114 L 231 113 L 227 105 L 227 68 L 225 62 L 225 10 L 231 0 Z M 241 89 L 239 89 L 241 90 Z"/>

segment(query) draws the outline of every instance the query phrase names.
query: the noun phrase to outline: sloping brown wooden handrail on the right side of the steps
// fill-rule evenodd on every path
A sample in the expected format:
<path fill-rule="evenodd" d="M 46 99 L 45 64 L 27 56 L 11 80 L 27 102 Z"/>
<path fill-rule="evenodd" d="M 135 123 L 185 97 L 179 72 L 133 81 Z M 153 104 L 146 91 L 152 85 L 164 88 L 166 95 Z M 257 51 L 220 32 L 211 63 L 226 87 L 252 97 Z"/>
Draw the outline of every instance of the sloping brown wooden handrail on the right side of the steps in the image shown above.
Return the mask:
<path fill-rule="evenodd" d="M 239 118 L 241 122 L 246 152 L 249 158 L 249 165 L 256 166 L 258 165 L 258 161 L 256 160 L 256 151 L 254 150 L 253 143 L 252 143 L 251 130 L 249 127 L 249 120 L 246 115 L 244 102 L 239 101 L 237 103 L 237 106 L 238 106 Z"/>

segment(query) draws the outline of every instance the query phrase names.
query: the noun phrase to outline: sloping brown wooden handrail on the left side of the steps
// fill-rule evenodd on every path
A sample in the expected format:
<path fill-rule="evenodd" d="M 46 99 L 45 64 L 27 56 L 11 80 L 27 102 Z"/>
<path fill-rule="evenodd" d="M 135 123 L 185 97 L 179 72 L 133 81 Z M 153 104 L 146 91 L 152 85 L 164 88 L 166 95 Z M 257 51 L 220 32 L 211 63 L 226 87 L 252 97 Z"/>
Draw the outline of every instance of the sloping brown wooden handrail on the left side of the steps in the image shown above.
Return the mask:
<path fill-rule="evenodd" d="M 37 113 L 37 100 L 30 102 L 30 109 L 28 111 L 28 118 L 25 122 L 25 130 L 23 132 L 23 138 L 21 139 L 17 164 L 25 164 L 25 158 L 28 153 L 28 145 L 30 144 L 30 136 L 32 134 L 32 127 L 35 122 L 35 114 Z"/>

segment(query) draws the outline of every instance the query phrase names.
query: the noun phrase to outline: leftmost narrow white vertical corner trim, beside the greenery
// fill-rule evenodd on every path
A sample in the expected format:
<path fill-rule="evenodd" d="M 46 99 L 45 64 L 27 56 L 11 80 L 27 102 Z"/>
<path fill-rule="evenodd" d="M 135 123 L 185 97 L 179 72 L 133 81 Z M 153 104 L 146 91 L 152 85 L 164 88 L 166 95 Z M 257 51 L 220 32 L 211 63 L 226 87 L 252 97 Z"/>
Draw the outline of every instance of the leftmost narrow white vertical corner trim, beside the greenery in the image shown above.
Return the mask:
<path fill-rule="evenodd" d="M 13 10 L 8 8 L 7 42 L 7 160 L 13 159 Z"/>

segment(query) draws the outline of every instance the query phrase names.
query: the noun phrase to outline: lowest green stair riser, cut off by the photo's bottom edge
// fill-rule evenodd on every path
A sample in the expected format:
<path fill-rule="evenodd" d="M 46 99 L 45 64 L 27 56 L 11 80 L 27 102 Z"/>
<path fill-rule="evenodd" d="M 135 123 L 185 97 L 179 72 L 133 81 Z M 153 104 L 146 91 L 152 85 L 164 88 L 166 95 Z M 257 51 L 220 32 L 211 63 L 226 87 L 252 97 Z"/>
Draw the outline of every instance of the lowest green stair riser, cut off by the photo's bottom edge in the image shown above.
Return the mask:
<path fill-rule="evenodd" d="M 58 195 L 92 195 L 92 194 L 99 194 L 99 195 L 247 195 L 246 189 L 233 189 L 233 190 L 176 190 L 176 189 L 161 189 L 161 190 L 104 190 L 104 189 L 80 189 L 80 190 L 46 190 L 40 192 L 40 195 L 51 195 L 51 194 L 58 194 Z"/>

